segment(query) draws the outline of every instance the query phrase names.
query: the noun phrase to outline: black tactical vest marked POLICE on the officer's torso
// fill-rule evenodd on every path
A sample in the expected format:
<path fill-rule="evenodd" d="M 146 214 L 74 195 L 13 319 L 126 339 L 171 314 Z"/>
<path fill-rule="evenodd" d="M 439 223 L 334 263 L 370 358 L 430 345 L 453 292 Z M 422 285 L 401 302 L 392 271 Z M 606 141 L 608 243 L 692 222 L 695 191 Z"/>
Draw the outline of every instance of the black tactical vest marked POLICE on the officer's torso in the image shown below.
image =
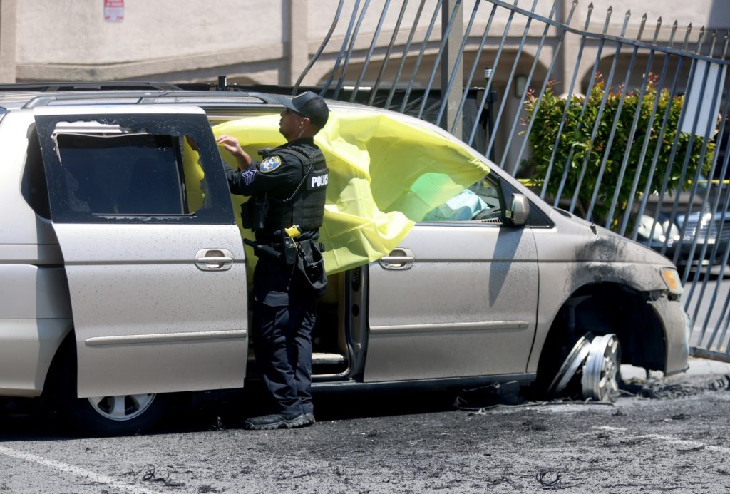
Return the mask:
<path fill-rule="evenodd" d="M 302 180 L 286 199 L 269 198 L 266 228 L 277 230 L 298 225 L 301 230 L 317 230 L 322 226 L 328 182 L 327 163 L 318 147 L 292 146 L 273 150 L 282 161 L 291 163 L 294 156 L 301 161 Z"/>

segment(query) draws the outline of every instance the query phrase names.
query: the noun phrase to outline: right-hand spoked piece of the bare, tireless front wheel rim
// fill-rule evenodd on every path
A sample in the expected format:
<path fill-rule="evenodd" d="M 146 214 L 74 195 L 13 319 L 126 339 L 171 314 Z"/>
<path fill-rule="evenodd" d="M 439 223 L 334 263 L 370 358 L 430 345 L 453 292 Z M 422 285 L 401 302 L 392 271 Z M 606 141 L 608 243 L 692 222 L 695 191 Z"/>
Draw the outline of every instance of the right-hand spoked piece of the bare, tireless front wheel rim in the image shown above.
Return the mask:
<path fill-rule="evenodd" d="M 620 348 L 615 334 L 596 336 L 591 341 L 583 366 L 583 398 L 594 401 L 615 401 L 618 396 Z"/>

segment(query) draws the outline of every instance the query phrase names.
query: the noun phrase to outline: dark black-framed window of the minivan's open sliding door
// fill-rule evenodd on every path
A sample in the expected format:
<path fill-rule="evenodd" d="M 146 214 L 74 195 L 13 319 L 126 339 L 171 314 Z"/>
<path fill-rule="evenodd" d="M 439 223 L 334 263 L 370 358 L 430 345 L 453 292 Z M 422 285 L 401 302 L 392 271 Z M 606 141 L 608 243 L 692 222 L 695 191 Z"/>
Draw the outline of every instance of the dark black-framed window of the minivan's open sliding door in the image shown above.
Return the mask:
<path fill-rule="evenodd" d="M 35 120 L 54 223 L 235 223 L 205 115 Z"/>

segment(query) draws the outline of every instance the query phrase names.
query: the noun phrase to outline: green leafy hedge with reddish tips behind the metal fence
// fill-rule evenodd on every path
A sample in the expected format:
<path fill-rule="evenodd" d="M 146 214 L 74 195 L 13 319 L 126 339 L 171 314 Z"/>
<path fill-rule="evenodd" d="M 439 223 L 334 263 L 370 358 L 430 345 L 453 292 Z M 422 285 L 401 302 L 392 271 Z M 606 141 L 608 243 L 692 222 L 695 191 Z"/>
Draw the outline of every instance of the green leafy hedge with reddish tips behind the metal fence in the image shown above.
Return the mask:
<path fill-rule="evenodd" d="M 575 189 L 577 188 L 580 170 L 583 167 L 583 160 L 585 159 L 586 154 L 589 155 L 588 165 L 586 166 L 585 175 L 577 198 L 575 212 L 578 215 L 585 216 L 588 206 L 591 203 L 593 188 L 598 180 L 599 169 L 608 145 L 611 127 L 615 119 L 616 112 L 618 112 L 621 88 L 618 88 L 618 90 L 615 91 L 611 89 L 612 88 L 609 90 L 601 122 L 599 123 L 599 128 L 592 144 L 591 133 L 593 131 L 593 126 L 596 123 L 596 117 L 599 112 L 601 100 L 605 94 L 604 82 L 602 80 L 596 82 L 591 94 L 588 95 L 588 105 L 585 108 L 585 113 L 582 119 L 580 118 L 580 111 L 583 107 L 583 96 L 572 96 L 570 98 L 566 122 L 561 132 L 561 139 L 558 144 L 558 151 L 554 159 L 553 169 L 550 172 L 550 177 L 548 178 L 548 187 L 545 191 L 545 197 L 548 201 L 552 202 L 558 193 L 561 178 L 563 177 L 572 147 L 573 154 L 569 163 L 566 185 L 564 186 L 564 190 L 561 194 L 562 199 L 570 201 Z M 647 180 L 649 180 L 650 166 L 656 152 L 656 144 L 658 135 L 661 131 L 661 123 L 664 120 L 666 107 L 669 104 L 671 104 L 671 108 L 669 109 L 669 117 L 666 122 L 666 129 L 661 142 L 661 150 L 658 153 L 656 171 L 651 179 L 650 190 L 654 190 L 656 192 L 661 190 L 661 184 L 664 181 L 666 169 L 669 166 L 672 167 L 672 172 L 668 183 L 668 193 L 673 193 L 680 187 L 680 175 L 683 163 L 685 162 L 685 157 L 688 153 L 691 137 L 690 134 L 680 133 L 679 143 L 677 144 L 677 152 L 672 163 L 669 163 L 669 157 L 677 134 L 677 124 L 679 123 L 684 96 L 676 96 L 672 99 L 672 101 L 670 101 L 669 90 L 664 89 L 658 92 L 656 90 L 656 77 L 650 76 L 648 77 L 644 99 L 642 100 L 641 107 L 639 109 L 640 114 L 637 122 L 637 130 L 634 133 L 634 140 L 631 143 L 628 165 L 621 183 L 621 191 L 618 195 L 618 203 L 615 206 L 614 217 L 612 218 L 612 228 L 615 228 L 618 224 L 618 219 L 624 214 L 628 205 L 629 196 L 631 194 L 631 184 L 634 181 L 637 166 L 639 165 L 642 146 L 647 136 L 651 110 L 657 97 L 659 99 L 658 109 L 656 110 L 653 126 L 650 129 L 650 142 L 642 166 L 639 184 L 637 187 L 637 197 L 634 198 L 634 204 L 637 203 L 642 190 L 645 189 Z M 607 214 L 610 210 L 610 202 L 613 200 L 613 195 L 615 193 L 615 188 L 621 171 L 623 157 L 629 147 L 629 136 L 631 134 L 631 126 L 634 122 L 634 115 L 636 115 L 638 101 L 639 90 L 632 90 L 626 93 L 626 97 L 623 101 L 623 108 L 621 109 L 621 115 L 618 118 L 613 142 L 609 150 L 606 169 L 604 171 L 601 184 L 599 185 L 596 206 L 593 208 L 593 220 L 597 223 L 605 223 L 607 219 Z M 537 96 L 531 94 L 526 102 L 528 117 L 531 118 L 533 113 L 536 111 L 537 116 L 535 117 L 535 121 L 529 135 L 532 155 L 529 160 L 526 160 L 523 163 L 523 165 L 534 173 L 534 181 L 539 183 L 542 188 L 542 182 L 545 179 L 548 172 L 548 166 L 550 165 L 550 157 L 553 154 L 553 147 L 556 141 L 561 117 L 565 109 L 566 99 L 556 96 L 553 93 L 552 88 L 549 87 L 542 96 L 540 106 L 536 108 L 536 105 Z M 578 123 L 581 120 L 582 123 L 580 128 L 578 128 Z M 702 155 L 702 144 L 704 139 L 695 136 L 692 140 L 692 148 L 689 151 L 690 158 L 688 162 L 688 169 L 685 173 L 685 180 L 681 184 L 681 188 L 683 190 L 691 186 L 691 180 L 694 179 L 697 166 L 700 165 L 699 161 Z M 710 169 L 714 150 L 714 139 L 711 139 L 707 144 L 707 150 L 702 162 L 702 169 L 704 173 L 707 173 Z M 634 209 L 637 209 L 637 207 L 634 206 Z"/>

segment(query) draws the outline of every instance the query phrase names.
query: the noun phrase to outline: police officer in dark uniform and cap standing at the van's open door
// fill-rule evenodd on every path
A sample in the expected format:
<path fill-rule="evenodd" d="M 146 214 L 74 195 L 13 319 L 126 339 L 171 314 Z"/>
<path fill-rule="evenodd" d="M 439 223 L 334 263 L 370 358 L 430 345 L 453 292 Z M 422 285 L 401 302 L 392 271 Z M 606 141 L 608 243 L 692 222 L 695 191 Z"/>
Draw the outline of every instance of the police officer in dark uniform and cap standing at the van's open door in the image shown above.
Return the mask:
<path fill-rule="evenodd" d="M 312 328 L 317 297 L 326 287 L 318 242 L 328 169 L 314 143 L 327 123 L 325 101 L 307 91 L 280 96 L 279 131 L 286 144 L 259 152 L 254 161 L 232 136 L 218 143 L 234 156 L 226 166 L 231 193 L 250 196 L 242 206 L 245 228 L 255 233 L 253 349 L 272 399 L 270 413 L 250 417 L 248 429 L 293 428 L 315 422 L 312 407 Z"/>

